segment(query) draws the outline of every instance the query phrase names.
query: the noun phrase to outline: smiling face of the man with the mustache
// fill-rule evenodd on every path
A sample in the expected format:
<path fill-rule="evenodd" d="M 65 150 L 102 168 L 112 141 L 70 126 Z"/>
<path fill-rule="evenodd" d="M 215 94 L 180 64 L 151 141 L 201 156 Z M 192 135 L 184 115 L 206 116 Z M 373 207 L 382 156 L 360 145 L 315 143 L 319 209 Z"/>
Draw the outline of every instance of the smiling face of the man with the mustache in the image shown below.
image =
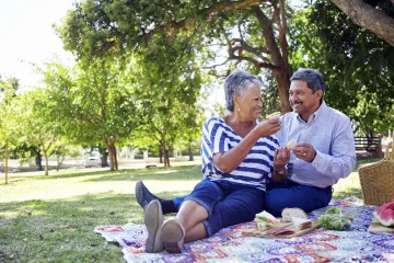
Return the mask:
<path fill-rule="evenodd" d="M 308 88 L 306 81 L 291 81 L 289 90 L 290 105 L 296 113 L 306 116 L 306 119 L 318 108 L 322 95 L 323 91 L 321 90 L 313 93 L 313 91 Z"/>

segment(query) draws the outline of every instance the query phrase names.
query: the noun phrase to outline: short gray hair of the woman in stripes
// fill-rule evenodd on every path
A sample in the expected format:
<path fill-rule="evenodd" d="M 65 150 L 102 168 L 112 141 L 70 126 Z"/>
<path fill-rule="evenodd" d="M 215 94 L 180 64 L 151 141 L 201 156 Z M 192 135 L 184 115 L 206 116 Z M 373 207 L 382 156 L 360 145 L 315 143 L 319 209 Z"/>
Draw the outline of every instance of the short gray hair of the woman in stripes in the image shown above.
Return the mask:
<path fill-rule="evenodd" d="M 245 70 L 236 69 L 224 80 L 225 108 L 234 111 L 234 96 L 241 95 L 252 87 L 262 87 L 262 81 L 256 76 Z"/>

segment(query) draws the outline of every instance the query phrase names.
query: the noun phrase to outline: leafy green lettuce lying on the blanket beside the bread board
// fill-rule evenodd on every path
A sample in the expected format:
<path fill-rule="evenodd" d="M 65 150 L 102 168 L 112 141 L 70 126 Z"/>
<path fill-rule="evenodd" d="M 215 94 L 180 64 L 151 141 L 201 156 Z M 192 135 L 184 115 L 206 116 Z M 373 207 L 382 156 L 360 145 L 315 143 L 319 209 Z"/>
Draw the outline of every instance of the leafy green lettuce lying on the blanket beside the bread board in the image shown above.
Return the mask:
<path fill-rule="evenodd" d="M 329 208 L 317 218 L 323 228 L 339 231 L 349 229 L 352 219 L 354 216 L 344 215 L 339 207 Z"/>

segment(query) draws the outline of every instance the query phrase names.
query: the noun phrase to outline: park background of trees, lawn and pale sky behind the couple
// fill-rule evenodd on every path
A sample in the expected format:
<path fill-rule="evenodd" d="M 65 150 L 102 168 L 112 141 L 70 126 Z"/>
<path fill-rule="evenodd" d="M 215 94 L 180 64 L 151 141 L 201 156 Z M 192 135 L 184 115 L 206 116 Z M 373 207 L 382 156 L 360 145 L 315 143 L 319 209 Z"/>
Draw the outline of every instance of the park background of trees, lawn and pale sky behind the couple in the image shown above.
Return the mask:
<path fill-rule="evenodd" d="M 390 0 L 4 0 L 0 14 L 0 261 L 119 260 L 92 229 L 142 222 L 139 180 L 169 198 L 193 188 L 235 68 L 262 79 L 260 118 L 291 111 L 293 71 L 321 71 L 362 138 L 358 165 L 392 137 Z M 357 169 L 336 198 L 361 197 Z"/>

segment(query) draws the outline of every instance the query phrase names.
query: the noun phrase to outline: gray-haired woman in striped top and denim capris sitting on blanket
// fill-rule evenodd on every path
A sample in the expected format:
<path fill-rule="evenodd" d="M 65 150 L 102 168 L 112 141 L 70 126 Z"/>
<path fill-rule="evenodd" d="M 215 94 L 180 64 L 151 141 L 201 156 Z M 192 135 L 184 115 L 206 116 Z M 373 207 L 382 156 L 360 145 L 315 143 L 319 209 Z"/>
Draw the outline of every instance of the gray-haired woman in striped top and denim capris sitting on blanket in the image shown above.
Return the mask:
<path fill-rule="evenodd" d="M 279 119 L 258 122 L 260 81 L 236 70 L 224 81 L 229 115 L 202 127 L 204 179 L 183 198 L 176 217 L 163 222 L 161 202 L 146 206 L 147 252 L 182 252 L 183 242 L 210 237 L 222 228 L 253 220 L 264 209 L 269 180 L 280 183 L 290 152 L 275 136 Z M 279 149 L 278 149 L 279 148 Z M 137 201 L 143 203 L 137 188 Z"/>

